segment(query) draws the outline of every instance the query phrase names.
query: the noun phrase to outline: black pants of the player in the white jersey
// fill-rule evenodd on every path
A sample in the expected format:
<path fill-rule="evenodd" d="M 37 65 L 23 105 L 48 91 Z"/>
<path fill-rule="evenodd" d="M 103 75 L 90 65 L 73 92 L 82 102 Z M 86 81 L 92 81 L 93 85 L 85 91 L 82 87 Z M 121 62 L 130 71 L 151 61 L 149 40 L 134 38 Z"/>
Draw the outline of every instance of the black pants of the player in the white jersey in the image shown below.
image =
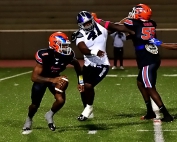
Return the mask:
<path fill-rule="evenodd" d="M 83 66 L 84 83 L 89 83 L 95 87 L 108 73 L 108 65 Z"/>

